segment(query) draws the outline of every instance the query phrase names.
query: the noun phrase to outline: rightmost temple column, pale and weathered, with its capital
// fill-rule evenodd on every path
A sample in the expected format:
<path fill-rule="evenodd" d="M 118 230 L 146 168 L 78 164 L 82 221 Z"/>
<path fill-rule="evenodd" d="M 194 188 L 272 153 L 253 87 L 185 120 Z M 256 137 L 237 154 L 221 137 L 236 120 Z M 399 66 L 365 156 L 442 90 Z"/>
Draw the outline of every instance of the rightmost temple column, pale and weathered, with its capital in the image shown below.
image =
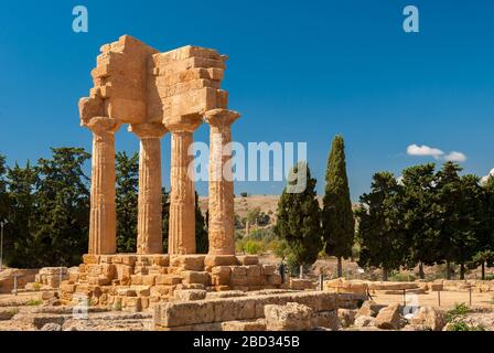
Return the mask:
<path fill-rule="evenodd" d="M 210 136 L 210 254 L 235 255 L 232 124 L 239 114 L 228 109 L 206 113 Z"/>

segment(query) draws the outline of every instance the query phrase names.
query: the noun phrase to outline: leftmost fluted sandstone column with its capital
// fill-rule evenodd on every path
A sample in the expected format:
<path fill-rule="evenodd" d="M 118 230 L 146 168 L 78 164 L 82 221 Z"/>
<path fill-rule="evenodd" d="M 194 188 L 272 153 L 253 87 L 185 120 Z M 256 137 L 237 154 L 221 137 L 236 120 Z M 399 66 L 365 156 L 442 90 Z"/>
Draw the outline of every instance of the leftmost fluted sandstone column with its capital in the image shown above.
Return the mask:
<path fill-rule="evenodd" d="M 86 126 L 93 131 L 88 253 L 115 254 L 117 252 L 115 131 L 120 124 L 112 118 L 94 117 Z"/>

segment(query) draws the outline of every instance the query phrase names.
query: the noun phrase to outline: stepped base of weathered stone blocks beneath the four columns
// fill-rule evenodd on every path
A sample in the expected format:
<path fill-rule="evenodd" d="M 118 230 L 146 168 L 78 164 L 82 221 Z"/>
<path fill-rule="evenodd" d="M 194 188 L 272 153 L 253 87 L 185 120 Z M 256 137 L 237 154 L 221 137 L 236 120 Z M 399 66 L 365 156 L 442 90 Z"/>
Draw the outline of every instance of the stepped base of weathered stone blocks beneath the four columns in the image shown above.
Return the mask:
<path fill-rule="evenodd" d="M 289 288 L 276 265 L 260 265 L 256 256 L 117 254 L 83 260 L 62 282 L 61 299 L 111 310 L 137 312 L 187 296 L 204 299 L 206 292 Z"/>

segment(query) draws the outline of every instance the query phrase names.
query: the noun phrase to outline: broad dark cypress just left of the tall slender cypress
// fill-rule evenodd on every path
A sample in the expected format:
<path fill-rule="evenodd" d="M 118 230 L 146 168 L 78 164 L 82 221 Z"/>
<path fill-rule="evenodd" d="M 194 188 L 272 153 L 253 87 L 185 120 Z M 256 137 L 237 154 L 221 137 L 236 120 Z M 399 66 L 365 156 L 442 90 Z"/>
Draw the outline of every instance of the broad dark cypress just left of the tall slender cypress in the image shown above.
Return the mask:
<path fill-rule="evenodd" d="M 299 162 L 293 167 L 278 202 L 275 233 L 287 240 L 290 255 L 298 266 L 313 264 L 322 248 L 321 211 L 315 184 L 307 162 Z"/>

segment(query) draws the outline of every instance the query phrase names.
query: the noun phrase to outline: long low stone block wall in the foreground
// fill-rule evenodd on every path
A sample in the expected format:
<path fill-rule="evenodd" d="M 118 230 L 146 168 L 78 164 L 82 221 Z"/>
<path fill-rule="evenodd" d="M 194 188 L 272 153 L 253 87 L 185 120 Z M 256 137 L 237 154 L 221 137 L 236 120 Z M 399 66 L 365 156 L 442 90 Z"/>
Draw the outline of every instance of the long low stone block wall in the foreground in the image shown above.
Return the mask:
<path fill-rule="evenodd" d="M 244 331 L 266 330 L 265 307 L 303 304 L 312 309 L 311 327 L 335 329 L 337 309 L 355 309 L 364 297 L 323 291 L 246 293 L 244 297 L 160 303 L 154 307 L 154 330 L 159 331 Z"/>

